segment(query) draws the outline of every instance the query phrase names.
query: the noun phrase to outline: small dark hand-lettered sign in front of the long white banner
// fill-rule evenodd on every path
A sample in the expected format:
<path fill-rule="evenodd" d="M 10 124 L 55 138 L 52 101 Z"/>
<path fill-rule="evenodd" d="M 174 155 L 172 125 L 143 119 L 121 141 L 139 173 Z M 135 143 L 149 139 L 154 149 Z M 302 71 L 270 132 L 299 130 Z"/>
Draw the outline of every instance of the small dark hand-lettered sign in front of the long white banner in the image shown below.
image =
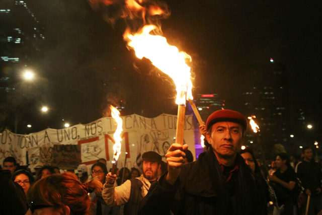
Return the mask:
<path fill-rule="evenodd" d="M 51 166 L 74 170 L 81 163 L 80 145 L 54 145 L 51 153 Z"/>

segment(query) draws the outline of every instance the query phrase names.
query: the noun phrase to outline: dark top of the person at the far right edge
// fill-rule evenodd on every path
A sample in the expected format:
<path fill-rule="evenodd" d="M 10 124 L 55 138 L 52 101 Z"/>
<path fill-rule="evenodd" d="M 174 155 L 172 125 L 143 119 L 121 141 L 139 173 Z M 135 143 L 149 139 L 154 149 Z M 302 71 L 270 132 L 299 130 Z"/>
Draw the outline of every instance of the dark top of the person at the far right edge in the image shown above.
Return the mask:
<path fill-rule="evenodd" d="M 316 188 L 321 187 L 322 171 L 321 165 L 313 159 L 311 162 L 303 161 L 297 166 L 297 177 L 301 181 L 302 187 L 309 189 L 315 195 Z"/>

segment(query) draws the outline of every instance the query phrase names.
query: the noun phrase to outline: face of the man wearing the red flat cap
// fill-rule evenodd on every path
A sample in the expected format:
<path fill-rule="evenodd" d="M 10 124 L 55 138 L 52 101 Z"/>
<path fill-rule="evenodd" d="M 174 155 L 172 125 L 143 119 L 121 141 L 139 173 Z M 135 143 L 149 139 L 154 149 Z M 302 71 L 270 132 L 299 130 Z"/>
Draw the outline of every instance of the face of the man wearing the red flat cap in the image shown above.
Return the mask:
<path fill-rule="evenodd" d="M 212 125 L 207 140 L 215 153 L 221 158 L 231 158 L 243 145 L 243 128 L 235 122 L 217 122 Z"/>

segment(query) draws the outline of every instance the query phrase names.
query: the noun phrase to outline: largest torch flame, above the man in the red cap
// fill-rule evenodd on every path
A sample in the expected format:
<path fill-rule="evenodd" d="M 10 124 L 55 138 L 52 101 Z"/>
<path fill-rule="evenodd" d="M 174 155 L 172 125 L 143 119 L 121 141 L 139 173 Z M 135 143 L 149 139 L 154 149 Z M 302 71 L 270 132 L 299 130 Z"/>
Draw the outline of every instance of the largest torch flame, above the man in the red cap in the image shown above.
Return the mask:
<path fill-rule="evenodd" d="M 193 100 L 191 72 L 186 64 L 186 60 L 191 61 L 191 57 L 169 45 L 165 37 L 151 35 L 150 31 L 154 29 L 154 25 L 145 25 L 134 35 L 126 31 L 123 37 L 128 41 L 128 46 L 135 50 L 138 58 L 148 58 L 154 66 L 173 79 L 177 90 L 176 103 L 185 106 L 186 99 Z"/>

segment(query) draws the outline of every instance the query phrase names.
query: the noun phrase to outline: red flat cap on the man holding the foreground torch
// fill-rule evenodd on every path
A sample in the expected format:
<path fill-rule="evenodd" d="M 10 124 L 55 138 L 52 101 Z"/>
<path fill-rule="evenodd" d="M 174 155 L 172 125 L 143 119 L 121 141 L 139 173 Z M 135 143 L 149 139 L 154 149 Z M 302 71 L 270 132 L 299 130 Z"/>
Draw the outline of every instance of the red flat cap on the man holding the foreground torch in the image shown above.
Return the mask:
<path fill-rule="evenodd" d="M 207 119 L 207 130 L 216 122 L 235 122 L 247 129 L 247 119 L 241 113 L 233 110 L 217 110 L 210 114 Z"/>

